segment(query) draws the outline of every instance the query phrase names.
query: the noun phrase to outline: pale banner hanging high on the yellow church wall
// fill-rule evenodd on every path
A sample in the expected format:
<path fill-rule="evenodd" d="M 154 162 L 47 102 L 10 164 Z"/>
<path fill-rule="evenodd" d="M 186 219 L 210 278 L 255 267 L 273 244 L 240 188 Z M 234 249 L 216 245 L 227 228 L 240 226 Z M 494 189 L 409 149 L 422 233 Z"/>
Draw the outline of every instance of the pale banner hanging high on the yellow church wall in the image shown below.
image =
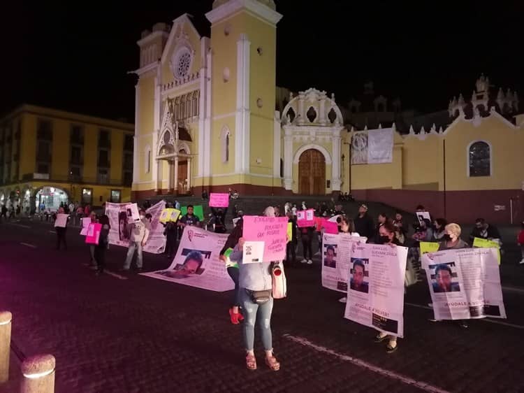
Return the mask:
<path fill-rule="evenodd" d="M 351 138 L 351 164 L 393 162 L 393 128 L 358 131 Z"/>

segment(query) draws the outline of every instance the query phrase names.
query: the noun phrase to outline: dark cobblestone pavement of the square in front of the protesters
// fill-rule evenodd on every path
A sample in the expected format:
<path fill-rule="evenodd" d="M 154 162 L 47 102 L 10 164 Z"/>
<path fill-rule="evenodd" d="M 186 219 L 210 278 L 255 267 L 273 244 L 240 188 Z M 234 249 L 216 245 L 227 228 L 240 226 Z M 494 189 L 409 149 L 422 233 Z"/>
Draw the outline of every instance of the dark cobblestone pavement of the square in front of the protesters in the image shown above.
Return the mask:
<path fill-rule="evenodd" d="M 68 250 L 56 251 L 45 222 L 0 224 L 0 308 L 13 312 L 23 355 L 57 358 L 57 392 L 524 391 L 520 288 L 504 291 L 507 320 L 460 329 L 429 322 L 425 285 L 410 287 L 405 338 L 388 355 L 374 330 L 344 320 L 341 294 L 321 288 L 318 261 L 290 268 L 289 297 L 275 301 L 272 318 L 282 369 L 269 371 L 257 343 L 259 369 L 247 371 L 229 293 L 136 274 L 96 277 L 77 232 L 68 229 Z M 124 255 L 111 246 L 108 269 Z M 168 264 L 145 254 L 146 270 Z"/>

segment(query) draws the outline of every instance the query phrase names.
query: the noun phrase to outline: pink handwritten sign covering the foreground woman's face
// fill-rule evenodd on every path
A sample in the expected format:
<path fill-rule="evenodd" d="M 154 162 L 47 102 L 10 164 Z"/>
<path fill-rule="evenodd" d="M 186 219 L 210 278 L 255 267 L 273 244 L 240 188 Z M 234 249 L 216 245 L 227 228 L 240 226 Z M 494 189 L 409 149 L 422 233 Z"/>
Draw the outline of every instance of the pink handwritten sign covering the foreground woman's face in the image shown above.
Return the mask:
<path fill-rule="evenodd" d="M 244 216 L 243 238 L 246 241 L 263 241 L 263 262 L 286 259 L 287 217 Z"/>

